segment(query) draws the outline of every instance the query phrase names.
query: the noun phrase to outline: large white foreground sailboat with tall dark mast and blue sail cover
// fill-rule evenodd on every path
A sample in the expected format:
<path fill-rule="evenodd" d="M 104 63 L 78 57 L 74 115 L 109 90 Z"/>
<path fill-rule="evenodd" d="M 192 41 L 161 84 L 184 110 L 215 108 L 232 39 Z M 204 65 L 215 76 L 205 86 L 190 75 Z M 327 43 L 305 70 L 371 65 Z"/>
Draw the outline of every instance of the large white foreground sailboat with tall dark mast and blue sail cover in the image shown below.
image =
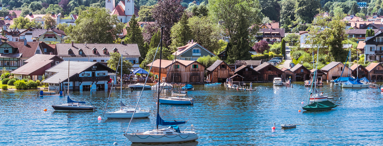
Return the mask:
<path fill-rule="evenodd" d="M 160 49 L 160 63 L 159 67 L 161 67 L 161 59 L 162 59 L 162 33 L 164 27 L 161 27 L 161 49 Z M 161 79 L 161 69 L 159 70 L 159 79 Z M 161 80 L 159 80 L 160 85 Z M 157 103 L 159 103 L 160 99 L 160 90 L 158 90 Z M 156 128 L 154 130 L 149 130 L 146 132 L 134 132 L 127 133 L 124 132 L 124 136 L 129 139 L 132 143 L 177 143 L 177 142 L 185 142 L 185 141 L 194 141 L 198 139 L 198 135 L 195 132 L 193 125 L 191 125 L 191 130 L 183 130 L 181 131 L 178 127 L 179 124 L 185 124 L 186 121 L 165 121 L 162 120 L 159 114 L 159 106 L 157 105 L 157 122 Z M 169 126 L 168 128 L 158 128 L 158 125 Z M 128 127 L 129 129 L 129 127 Z"/>

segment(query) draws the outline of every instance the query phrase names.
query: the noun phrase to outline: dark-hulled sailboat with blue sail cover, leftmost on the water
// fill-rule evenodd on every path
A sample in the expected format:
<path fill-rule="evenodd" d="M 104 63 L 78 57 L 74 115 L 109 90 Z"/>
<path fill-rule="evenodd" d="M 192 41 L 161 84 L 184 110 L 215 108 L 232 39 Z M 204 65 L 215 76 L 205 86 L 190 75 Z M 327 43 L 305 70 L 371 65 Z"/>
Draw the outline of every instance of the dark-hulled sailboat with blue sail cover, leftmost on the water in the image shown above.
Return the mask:
<path fill-rule="evenodd" d="M 59 105 L 52 105 L 53 109 L 56 110 L 56 111 L 93 111 L 93 110 L 96 110 L 97 107 L 95 107 L 93 105 L 86 106 L 86 105 L 80 104 L 80 103 L 85 104 L 85 101 L 73 101 L 72 99 L 69 98 L 69 63 L 70 63 L 70 60 L 68 60 L 68 96 L 67 96 L 67 103 L 59 104 Z"/>

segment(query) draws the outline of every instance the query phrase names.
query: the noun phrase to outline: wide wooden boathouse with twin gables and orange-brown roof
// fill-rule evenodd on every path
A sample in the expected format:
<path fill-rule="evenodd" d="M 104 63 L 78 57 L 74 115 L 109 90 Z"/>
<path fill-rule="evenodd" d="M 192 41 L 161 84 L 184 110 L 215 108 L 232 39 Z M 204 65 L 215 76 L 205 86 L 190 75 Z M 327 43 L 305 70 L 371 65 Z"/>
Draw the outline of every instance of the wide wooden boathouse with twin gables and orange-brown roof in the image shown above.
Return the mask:
<path fill-rule="evenodd" d="M 160 60 L 146 66 L 152 66 L 152 73 L 156 78 L 159 77 Z M 169 72 L 169 74 L 168 74 Z M 161 78 L 168 83 L 203 83 L 205 66 L 197 61 L 188 60 L 162 60 Z"/>

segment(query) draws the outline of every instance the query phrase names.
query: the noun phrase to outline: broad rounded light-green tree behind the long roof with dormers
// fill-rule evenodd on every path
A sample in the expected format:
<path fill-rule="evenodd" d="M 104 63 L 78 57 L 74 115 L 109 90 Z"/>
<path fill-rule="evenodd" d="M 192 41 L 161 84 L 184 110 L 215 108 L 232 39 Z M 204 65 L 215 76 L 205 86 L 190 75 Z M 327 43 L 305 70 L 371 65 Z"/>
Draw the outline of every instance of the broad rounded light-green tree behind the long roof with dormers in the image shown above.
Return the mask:
<path fill-rule="evenodd" d="M 69 25 L 65 33 L 77 43 L 113 43 L 124 28 L 117 16 L 110 15 L 106 8 L 89 7 L 81 11 L 75 24 Z"/>

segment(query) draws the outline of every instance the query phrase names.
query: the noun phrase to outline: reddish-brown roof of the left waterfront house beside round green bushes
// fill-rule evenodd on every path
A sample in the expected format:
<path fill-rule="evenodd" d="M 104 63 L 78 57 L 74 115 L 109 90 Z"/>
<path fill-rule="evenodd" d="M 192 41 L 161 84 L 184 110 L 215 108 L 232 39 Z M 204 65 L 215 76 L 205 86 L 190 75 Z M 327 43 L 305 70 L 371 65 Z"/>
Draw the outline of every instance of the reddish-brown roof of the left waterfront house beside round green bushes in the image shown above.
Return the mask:
<path fill-rule="evenodd" d="M 35 54 L 31 58 L 27 59 L 26 64 L 19 67 L 15 71 L 11 72 L 12 74 L 24 74 L 29 75 L 42 67 L 50 64 L 54 57 L 59 58 L 57 55 L 45 55 L 45 54 Z M 61 59 L 61 58 L 59 58 Z M 61 59 L 64 61 L 63 59 Z"/>

